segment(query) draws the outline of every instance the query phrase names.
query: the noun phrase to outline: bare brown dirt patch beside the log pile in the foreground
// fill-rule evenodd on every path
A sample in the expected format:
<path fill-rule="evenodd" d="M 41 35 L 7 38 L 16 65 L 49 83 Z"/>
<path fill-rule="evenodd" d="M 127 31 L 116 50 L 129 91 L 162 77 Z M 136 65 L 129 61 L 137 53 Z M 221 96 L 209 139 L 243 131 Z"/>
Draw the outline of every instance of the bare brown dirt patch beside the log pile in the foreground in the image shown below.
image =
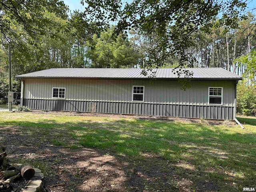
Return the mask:
<path fill-rule="evenodd" d="M 120 163 L 105 151 L 89 148 L 70 150 L 22 134 L 15 127 L 1 127 L 0 142 L 11 161 L 28 161 L 42 169 L 52 192 L 128 191 Z"/>

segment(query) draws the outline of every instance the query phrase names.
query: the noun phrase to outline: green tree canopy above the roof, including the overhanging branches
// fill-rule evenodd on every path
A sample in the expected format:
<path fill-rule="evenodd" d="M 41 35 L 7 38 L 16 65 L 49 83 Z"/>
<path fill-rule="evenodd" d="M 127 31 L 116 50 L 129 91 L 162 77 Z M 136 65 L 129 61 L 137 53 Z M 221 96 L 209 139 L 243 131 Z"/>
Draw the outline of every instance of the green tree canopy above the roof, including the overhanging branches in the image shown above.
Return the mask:
<path fill-rule="evenodd" d="M 232 50 L 236 50 L 234 58 L 244 54 L 247 37 L 251 36 L 251 44 L 255 44 L 254 15 L 248 13 L 240 20 L 237 10 L 245 4 L 236 0 L 227 3 L 142 0 L 123 4 L 86 0 L 82 3 L 86 11 L 74 11 L 70 17 L 60 0 L 0 3 L 0 98 L 8 91 L 6 48 L 10 39 L 13 78 L 17 74 L 67 67 L 228 68 L 228 54 L 224 51 L 227 32 L 230 47 L 233 39 L 237 39 L 237 46 L 230 48 L 232 56 Z M 223 17 L 216 20 L 220 10 Z M 117 21 L 116 28 L 110 28 L 110 20 Z M 130 32 L 129 38 L 126 32 Z M 255 69 L 254 54 L 252 51 L 251 64 L 245 68 L 250 70 L 250 75 Z M 176 70 L 177 74 L 185 72 Z M 190 73 L 185 74 L 190 77 Z M 182 82 L 184 87 L 186 82 Z M 14 90 L 19 91 L 20 82 L 13 80 L 13 83 Z"/>

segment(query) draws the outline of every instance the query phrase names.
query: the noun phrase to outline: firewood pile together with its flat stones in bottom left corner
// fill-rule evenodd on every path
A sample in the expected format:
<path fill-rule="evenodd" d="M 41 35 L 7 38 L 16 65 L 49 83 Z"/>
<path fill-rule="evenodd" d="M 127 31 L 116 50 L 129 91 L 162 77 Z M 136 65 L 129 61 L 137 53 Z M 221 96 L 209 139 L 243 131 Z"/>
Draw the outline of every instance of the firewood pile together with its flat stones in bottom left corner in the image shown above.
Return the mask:
<path fill-rule="evenodd" d="M 48 192 L 42 179 L 44 174 L 30 164 L 11 164 L 6 158 L 4 146 L 0 146 L 0 191 Z"/>

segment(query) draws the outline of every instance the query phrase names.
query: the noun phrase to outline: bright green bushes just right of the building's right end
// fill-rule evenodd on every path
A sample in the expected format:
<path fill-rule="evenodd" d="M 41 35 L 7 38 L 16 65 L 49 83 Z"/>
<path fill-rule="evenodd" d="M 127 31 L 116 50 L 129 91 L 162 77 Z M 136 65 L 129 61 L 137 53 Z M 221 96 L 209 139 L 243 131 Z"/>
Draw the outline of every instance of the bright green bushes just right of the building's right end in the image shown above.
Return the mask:
<path fill-rule="evenodd" d="M 256 116 L 256 87 L 245 82 L 237 85 L 236 111 L 246 116 Z"/>

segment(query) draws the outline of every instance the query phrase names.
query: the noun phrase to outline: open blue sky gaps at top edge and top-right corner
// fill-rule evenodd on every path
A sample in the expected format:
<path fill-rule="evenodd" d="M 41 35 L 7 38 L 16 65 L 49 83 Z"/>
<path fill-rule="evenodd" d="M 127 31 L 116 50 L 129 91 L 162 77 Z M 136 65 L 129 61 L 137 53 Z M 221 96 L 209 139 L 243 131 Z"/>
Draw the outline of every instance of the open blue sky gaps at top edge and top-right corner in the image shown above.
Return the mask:
<path fill-rule="evenodd" d="M 71 10 L 71 12 L 73 12 L 74 10 L 83 11 L 84 6 L 80 4 L 80 1 L 81 0 L 64 0 L 64 3 L 69 6 L 69 9 Z M 256 14 L 256 0 L 247 0 L 246 2 L 247 2 L 247 8 L 245 12 L 254 9 L 253 13 Z"/>

